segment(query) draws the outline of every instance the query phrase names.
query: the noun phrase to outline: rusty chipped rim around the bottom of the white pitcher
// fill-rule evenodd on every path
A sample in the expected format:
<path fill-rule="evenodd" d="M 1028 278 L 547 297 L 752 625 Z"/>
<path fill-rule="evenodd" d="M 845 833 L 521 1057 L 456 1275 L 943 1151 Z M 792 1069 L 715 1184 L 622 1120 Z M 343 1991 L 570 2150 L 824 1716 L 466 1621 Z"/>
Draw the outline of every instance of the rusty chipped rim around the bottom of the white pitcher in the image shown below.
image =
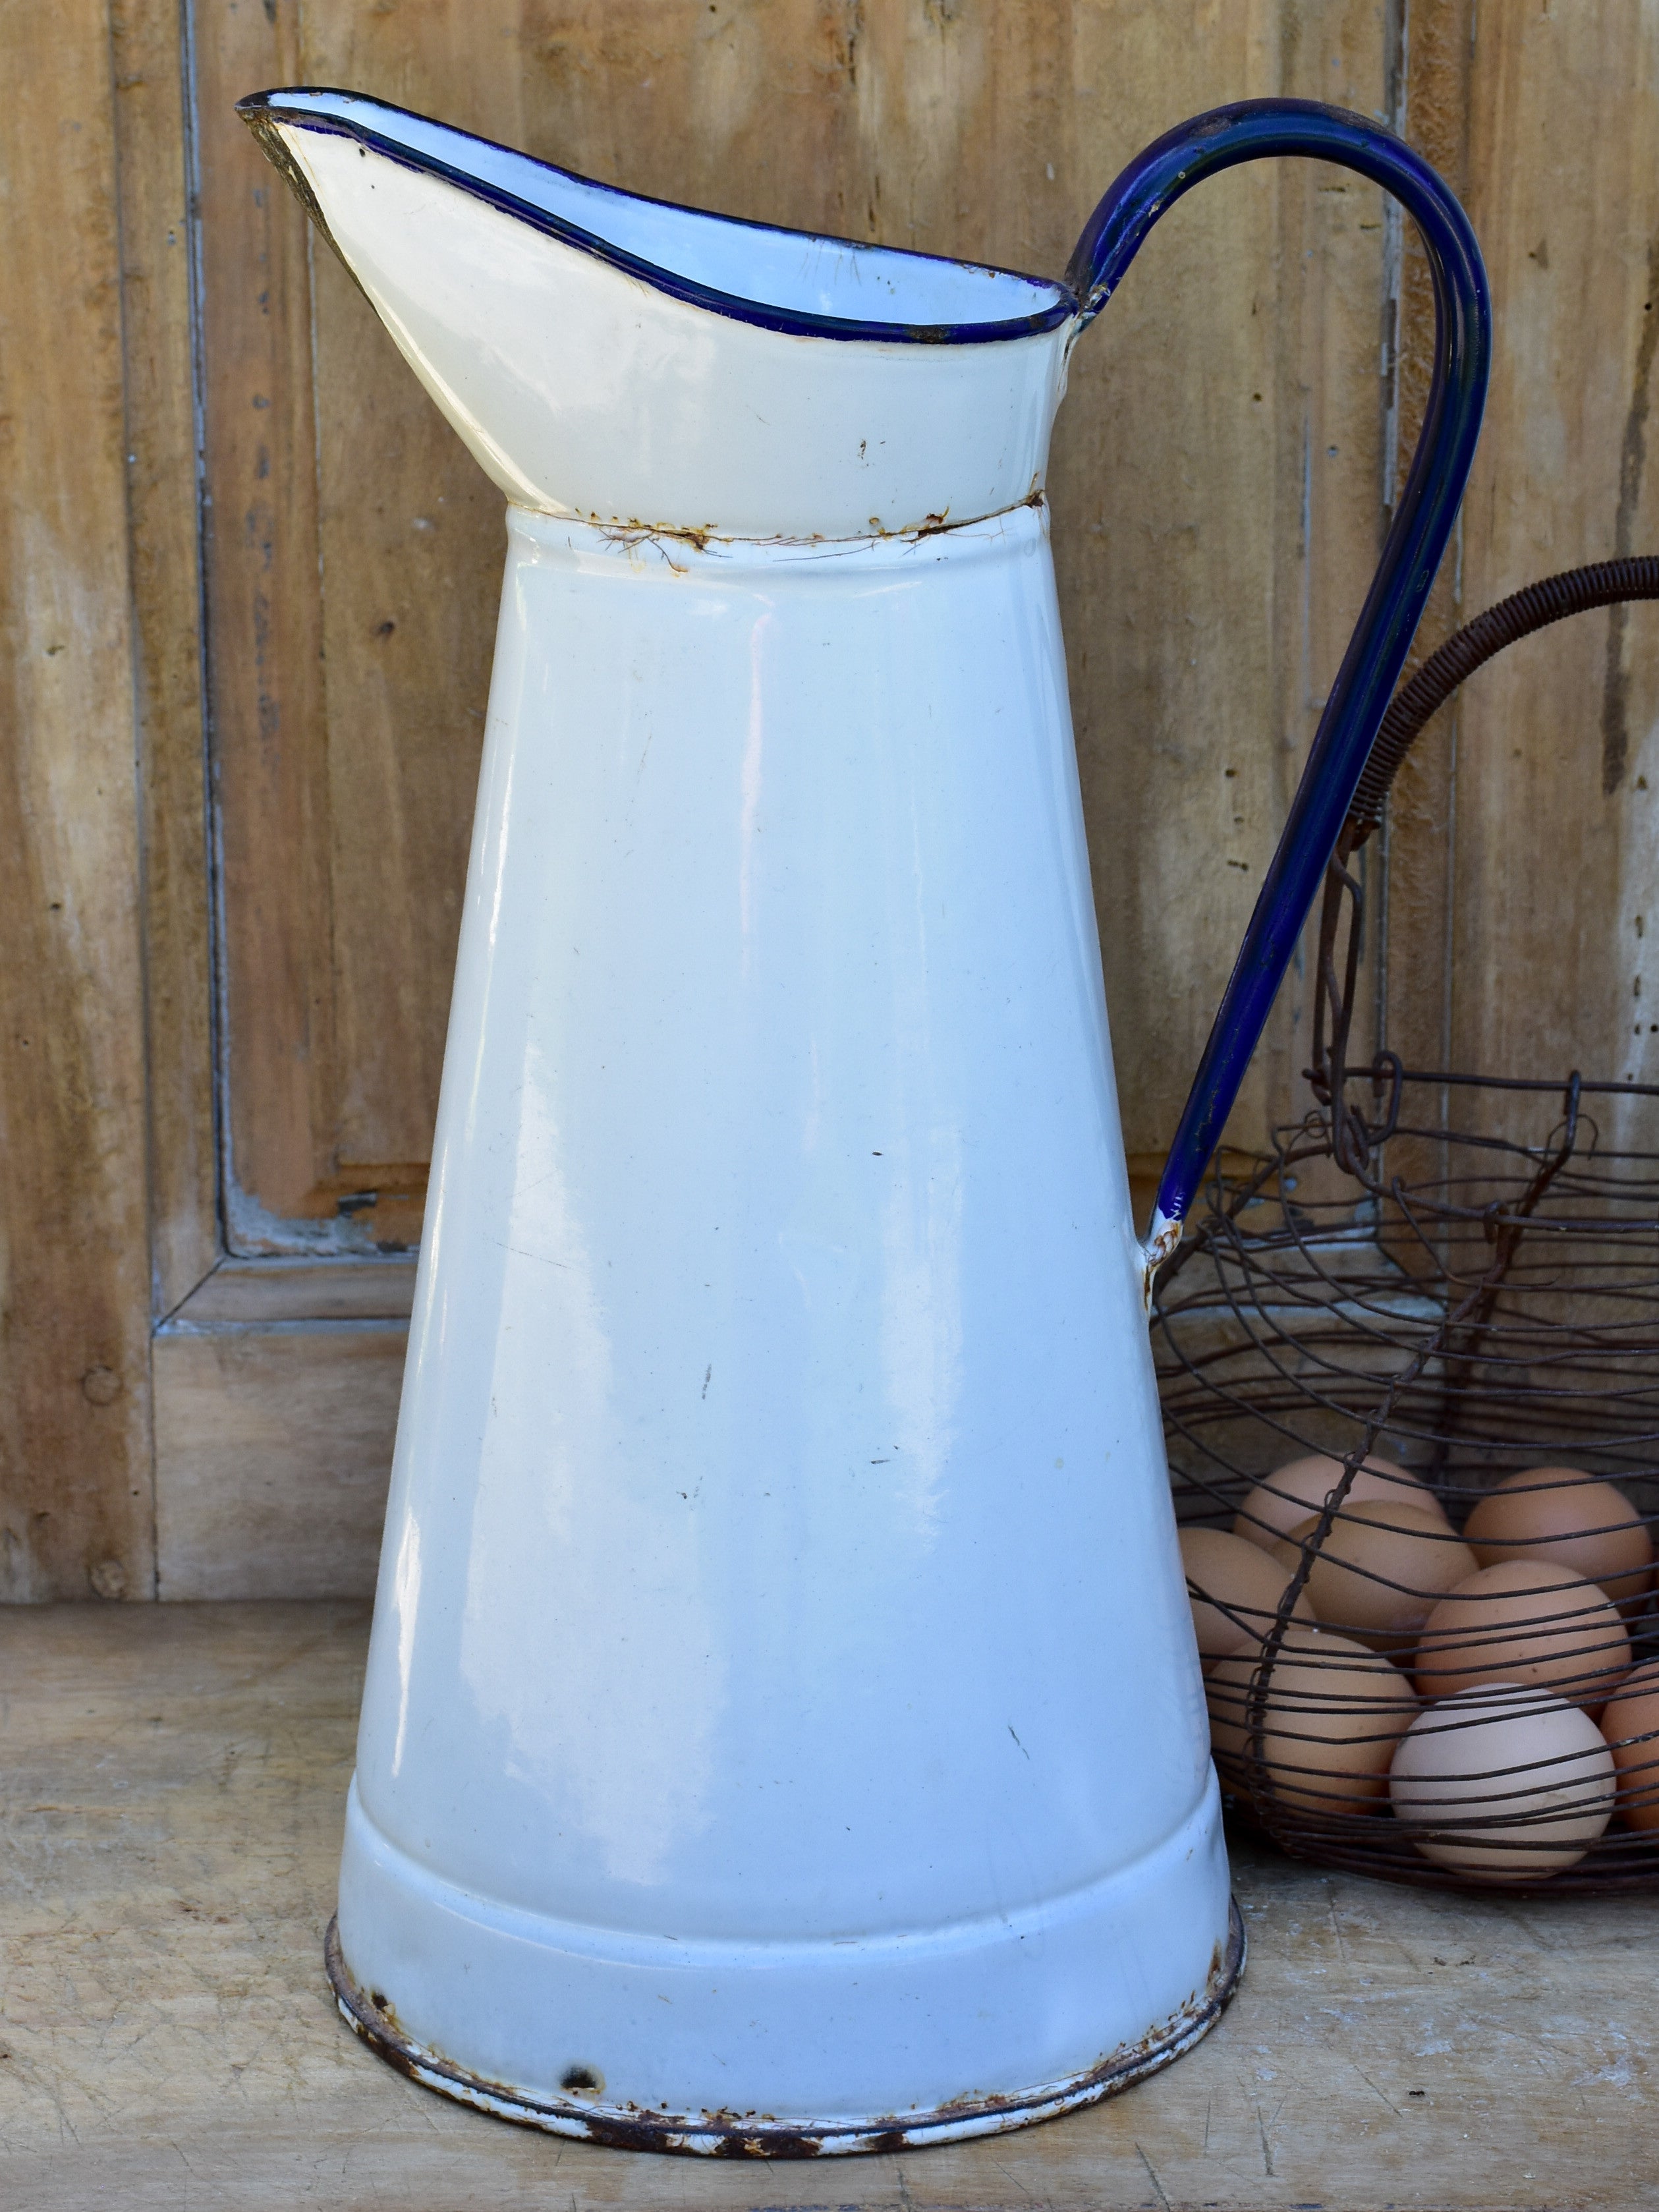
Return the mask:
<path fill-rule="evenodd" d="M 818 2159 L 847 2152 L 920 2150 L 975 2135 L 1006 2135 L 1042 2119 L 1057 2119 L 1133 2088 L 1190 2051 L 1232 2002 L 1245 1969 L 1245 1929 L 1239 1900 L 1228 1905 L 1228 1944 L 1206 1986 L 1172 2017 L 1157 2022 L 1139 2042 L 1124 2044 L 1084 2073 L 1000 2097 L 964 2097 L 931 2112 L 880 2119 L 750 2119 L 737 2112 L 641 2112 L 637 2106 L 604 2106 L 593 2099 L 531 2097 L 504 2081 L 487 2081 L 451 2059 L 411 2042 L 374 1997 L 358 1989 L 341 1951 L 338 1918 L 323 1938 L 323 1960 L 341 2020 L 409 2081 L 453 2097 L 478 2112 L 509 2119 L 520 2128 L 604 2143 L 611 2150 L 679 2152 L 706 2159 Z"/>

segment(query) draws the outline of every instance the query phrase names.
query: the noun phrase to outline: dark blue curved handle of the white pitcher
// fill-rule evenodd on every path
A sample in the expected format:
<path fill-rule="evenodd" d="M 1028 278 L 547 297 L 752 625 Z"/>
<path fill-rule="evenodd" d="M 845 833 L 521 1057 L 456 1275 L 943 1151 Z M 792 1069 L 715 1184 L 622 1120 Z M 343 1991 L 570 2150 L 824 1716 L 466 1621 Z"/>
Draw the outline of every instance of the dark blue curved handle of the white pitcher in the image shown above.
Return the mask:
<path fill-rule="evenodd" d="M 1099 314 L 1152 223 L 1183 192 L 1237 161 L 1283 153 L 1358 170 L 1394 192 L 1418 226 L 1433 272 L 1433 385 L 1383 560 L 1325 701 L 1285 832 L 1164 1164 L 1144 1248 L 1148 1290 L 1152 1270 L 1179 1243 L 1181 1221 L 1267 1024 L 1400 677 L 1475 458 L 1491 372 L 1491 299 L 1469 217 L 1429 164 L 1391 131 L 1314 100 L 1243 100 L 1212 108 L 1137 155 L 1095 208 L 1066 270 L 1084 321 Z"/>

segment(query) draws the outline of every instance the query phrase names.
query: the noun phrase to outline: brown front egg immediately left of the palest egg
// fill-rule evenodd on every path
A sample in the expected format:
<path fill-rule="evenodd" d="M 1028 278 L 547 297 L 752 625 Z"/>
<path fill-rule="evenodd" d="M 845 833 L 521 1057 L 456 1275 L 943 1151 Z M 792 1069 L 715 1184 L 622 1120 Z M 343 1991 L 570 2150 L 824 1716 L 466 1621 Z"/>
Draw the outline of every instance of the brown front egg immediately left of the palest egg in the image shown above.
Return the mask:
<path fill-rule="evenodd" d="M 1217 1659 L 1206 1683 L 1210 1743 L 1234 1787 L 1259 1794 L 1248 1752 L 1248 1697 L 1259 1661 Z M 1305 1814 L 1374 1812 L 1387 1792 L 1394 1745 L 1418 1701 L 1405 1674 L 1347 1637 L 1296 1628 L 1267 1677 L 1259 1759 L 1272 1794 Z"/>

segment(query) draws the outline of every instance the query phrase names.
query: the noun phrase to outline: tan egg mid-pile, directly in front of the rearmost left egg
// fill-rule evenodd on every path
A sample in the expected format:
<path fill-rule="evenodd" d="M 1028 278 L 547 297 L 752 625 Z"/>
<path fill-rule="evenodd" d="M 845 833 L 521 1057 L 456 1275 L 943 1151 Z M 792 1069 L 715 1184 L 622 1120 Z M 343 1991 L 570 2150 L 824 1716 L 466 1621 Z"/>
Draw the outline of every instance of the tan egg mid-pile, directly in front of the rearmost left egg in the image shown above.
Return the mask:
<path fill-rule="evenodd" d="M 1294 1566 L 1318 1515 L 1274 1544 L 1272 1557 Z M 1371 1650 L 1416 1644 L 1436 1604 L 1473 1575 L 1475 1555 L 1451 1533 L 1438 1506 L 1394 1498 L 1345 1506 L 1329 1526 L 1307 1575 L 1314 1613 Z"/>

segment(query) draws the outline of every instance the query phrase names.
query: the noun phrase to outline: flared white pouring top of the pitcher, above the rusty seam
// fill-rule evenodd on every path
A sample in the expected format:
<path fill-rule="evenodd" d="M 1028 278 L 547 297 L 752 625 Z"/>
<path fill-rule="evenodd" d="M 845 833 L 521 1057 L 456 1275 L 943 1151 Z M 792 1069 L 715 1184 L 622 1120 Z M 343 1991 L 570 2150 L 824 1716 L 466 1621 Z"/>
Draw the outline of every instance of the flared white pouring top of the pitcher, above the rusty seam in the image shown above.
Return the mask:
<path fill-rule="evenodd" d="M 867 538 L 1042 491 L 1062 283 L 644 199 L 354 93 L 239 113 L 520 507 Z"/>

